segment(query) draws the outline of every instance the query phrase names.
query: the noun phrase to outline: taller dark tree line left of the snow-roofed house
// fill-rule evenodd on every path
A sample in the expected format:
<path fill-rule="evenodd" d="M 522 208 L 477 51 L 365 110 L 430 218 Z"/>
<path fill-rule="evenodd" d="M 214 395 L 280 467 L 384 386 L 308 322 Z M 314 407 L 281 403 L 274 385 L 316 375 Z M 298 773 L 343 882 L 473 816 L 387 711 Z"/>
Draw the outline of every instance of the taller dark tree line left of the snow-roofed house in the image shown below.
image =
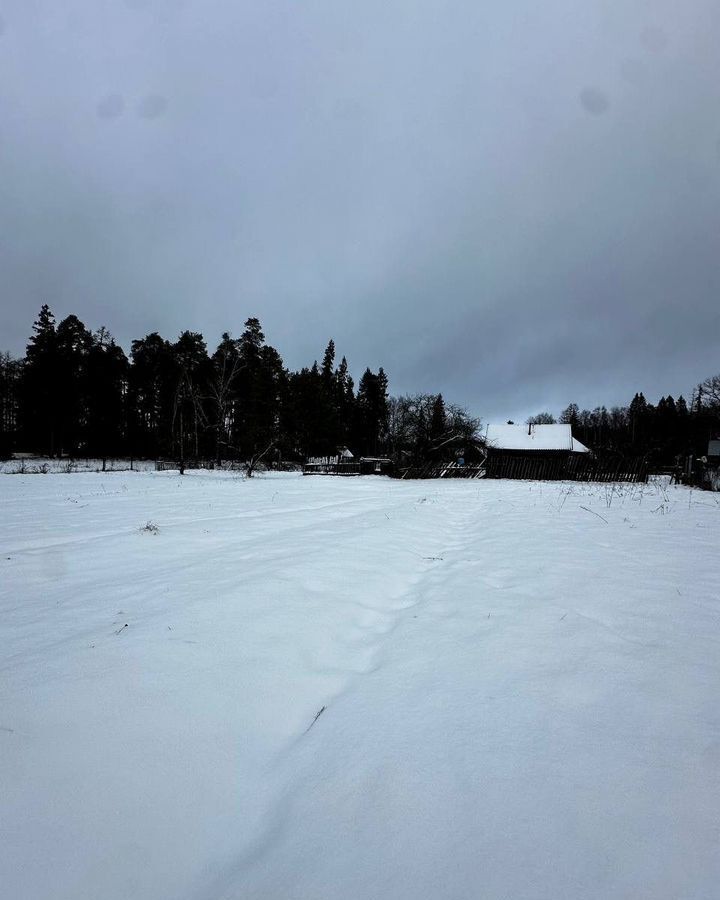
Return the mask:
<path fill-rule="evenodd" d="M 391 398 L 382 368 L 355 384 L 329 341 L 289 371 L 257 318 L 210 352 L 202 334 L 153 332 L 126 355 L 106 328 L 56 323 L 44 305 L 22 359 L 0 355 L 0 454 L 301 461 L 341 447 L 415 461 L 470 440 L 478 422 L 440 395 Z"/>

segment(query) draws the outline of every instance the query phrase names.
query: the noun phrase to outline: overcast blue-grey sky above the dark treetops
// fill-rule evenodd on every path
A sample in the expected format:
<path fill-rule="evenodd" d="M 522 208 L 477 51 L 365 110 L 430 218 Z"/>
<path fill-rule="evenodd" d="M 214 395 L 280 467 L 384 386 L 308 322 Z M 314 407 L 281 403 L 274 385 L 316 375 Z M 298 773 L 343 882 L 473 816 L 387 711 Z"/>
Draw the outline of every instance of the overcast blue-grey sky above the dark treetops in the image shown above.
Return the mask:
<path fill-rule="evenodd" d="M 0 0 L 0 349 L 256 315 L 487 419 L 720 372 L 717 0 Z"/>

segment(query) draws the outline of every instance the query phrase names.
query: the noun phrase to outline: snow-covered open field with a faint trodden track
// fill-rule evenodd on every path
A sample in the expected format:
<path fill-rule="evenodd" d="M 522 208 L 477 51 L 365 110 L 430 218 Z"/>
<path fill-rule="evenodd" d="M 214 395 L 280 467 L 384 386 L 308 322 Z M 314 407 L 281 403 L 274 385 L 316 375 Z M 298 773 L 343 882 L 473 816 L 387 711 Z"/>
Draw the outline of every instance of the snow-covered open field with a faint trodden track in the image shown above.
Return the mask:
<path fill-rule="evenodd" d="M 0 509 L 8 900 L 720 896 L 715 496 L 127 472 Z"/>

